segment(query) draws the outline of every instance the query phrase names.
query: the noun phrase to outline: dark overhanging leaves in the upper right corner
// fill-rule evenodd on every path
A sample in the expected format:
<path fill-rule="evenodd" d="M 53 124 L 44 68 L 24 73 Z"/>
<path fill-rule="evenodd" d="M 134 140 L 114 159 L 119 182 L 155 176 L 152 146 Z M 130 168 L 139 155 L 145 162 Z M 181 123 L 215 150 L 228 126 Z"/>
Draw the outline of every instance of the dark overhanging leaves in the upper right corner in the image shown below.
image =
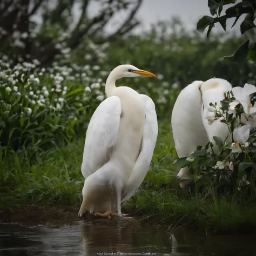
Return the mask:
<path fill-rule="evenodd" d="M 225 11 L 225 15 L 221 15 L 223 6 L 226 4 L 234 4 Z M 210 35 L 212 28 L 215 23 L 220 23 L 224 31 L 226 31 L 226 21 L 230 18 L 235 18 L 232 27 L 237 23 L 241 15 L 246 14 L 244 21 L 240 24 L 241 35 L 244 35 L 247 31 L 256 28 L 254 24 L 256 3 L 252 0 L 244 0 L 239 2 L 238 0 L 208 0 L 208 7 L 212 16 L 204 16 L 197 23 L 197 30 L 203 32 L 207 27 L 207 37 Z M 231 62 L 244 62 L 246 57 L 252 62 L 256 63 L 256 42 L 250 42 L 250 40 L 242 43 L 239 48 L 229 57 L 224 59 L 230 60 Z"/>

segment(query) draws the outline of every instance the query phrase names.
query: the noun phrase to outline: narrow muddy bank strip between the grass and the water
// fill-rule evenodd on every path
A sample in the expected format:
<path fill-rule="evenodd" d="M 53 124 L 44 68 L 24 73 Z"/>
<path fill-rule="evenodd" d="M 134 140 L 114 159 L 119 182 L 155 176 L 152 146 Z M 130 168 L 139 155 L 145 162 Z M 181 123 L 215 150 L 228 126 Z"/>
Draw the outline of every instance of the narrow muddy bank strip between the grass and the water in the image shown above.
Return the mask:
<path fill-rule="evenodd" d="M 94 217 L 91 214 L 78 217 L 78 206 L 50 206 L 43 204 L 28 204 L 24 206 L 13 206 L 0 210 L 0 224 L 16 223 L 22 225 L 63 225 L 74 221 L 92 221 L 102 217 Z M 202 226 L 193 225 L 184 221 L 168 218 L 164 221 L 159 220 L 156 215 L 145 215 L 139 212 L 123 211 L 129 217 L 134 217 L 134 222 L 138 225 L 151 225 L 157 228 L 166 228 L 172 232 L 177 229 L 188 229 L 193 231 L 205 231 L 207 234 L 256 234 L 256 226 L 239 225 L 231 230 L 205 229 Z M 112 217 L 118 218 L 118 217 Z"/>

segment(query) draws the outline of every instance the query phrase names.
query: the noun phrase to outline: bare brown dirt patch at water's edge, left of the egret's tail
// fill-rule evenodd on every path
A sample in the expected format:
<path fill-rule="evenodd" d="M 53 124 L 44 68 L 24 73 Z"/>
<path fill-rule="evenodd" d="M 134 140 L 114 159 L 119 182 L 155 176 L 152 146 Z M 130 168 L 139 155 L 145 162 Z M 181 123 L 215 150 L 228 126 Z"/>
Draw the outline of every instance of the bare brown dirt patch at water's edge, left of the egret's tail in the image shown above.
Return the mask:
<path fill-rule="evenodd" d="M 0 210 L 0 223 L 59 224 L 80 220 L 79 207 L 26 205 Z"/>

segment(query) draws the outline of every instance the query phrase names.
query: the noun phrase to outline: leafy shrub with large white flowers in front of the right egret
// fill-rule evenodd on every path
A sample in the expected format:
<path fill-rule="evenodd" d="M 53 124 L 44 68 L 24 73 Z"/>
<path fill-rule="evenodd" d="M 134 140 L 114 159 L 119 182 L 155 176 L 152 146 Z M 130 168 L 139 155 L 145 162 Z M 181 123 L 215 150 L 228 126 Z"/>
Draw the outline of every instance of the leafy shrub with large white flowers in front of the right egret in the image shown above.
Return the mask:
<path fill-rule="evenodd" d="M 179 158 L 176 165 L 189 166 L 196 190 L 208 193 L 213 188 L 217 194 L 232 195 L 256 181 L 256 87 L 245 84 L 224 93 L 221 106 L 210 103 L 208 124 L 219 119 L 228 127 L 229 134 L 223 141 L 213 137 L 213 144 L 198 146 L 190 156 Z M 212 191 L 212 190 L 211 190 Z"/>

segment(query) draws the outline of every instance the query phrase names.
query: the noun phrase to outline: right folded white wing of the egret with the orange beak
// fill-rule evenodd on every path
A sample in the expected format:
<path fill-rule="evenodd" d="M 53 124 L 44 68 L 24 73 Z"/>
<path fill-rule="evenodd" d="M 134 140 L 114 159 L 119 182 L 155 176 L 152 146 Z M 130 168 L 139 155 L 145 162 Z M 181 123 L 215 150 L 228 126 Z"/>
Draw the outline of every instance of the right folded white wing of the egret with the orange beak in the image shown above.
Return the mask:
<path fill-rule="evenodd" d="M 145 106 L 145 125 L 142 139 L 142 149 L 140 150 L 136 164 L 132 169 L 131 176 L 125 186 L 122 195 L 122 202 L 129 200 L 130 197 L 136 192 L 137 188 L 142 184 L 147 171 L 149 170 L 151 159 L 154 152 L 154 147 L 157 142 L 158 123 L 157 113 L 153 100 L 142 95 Z"/>

